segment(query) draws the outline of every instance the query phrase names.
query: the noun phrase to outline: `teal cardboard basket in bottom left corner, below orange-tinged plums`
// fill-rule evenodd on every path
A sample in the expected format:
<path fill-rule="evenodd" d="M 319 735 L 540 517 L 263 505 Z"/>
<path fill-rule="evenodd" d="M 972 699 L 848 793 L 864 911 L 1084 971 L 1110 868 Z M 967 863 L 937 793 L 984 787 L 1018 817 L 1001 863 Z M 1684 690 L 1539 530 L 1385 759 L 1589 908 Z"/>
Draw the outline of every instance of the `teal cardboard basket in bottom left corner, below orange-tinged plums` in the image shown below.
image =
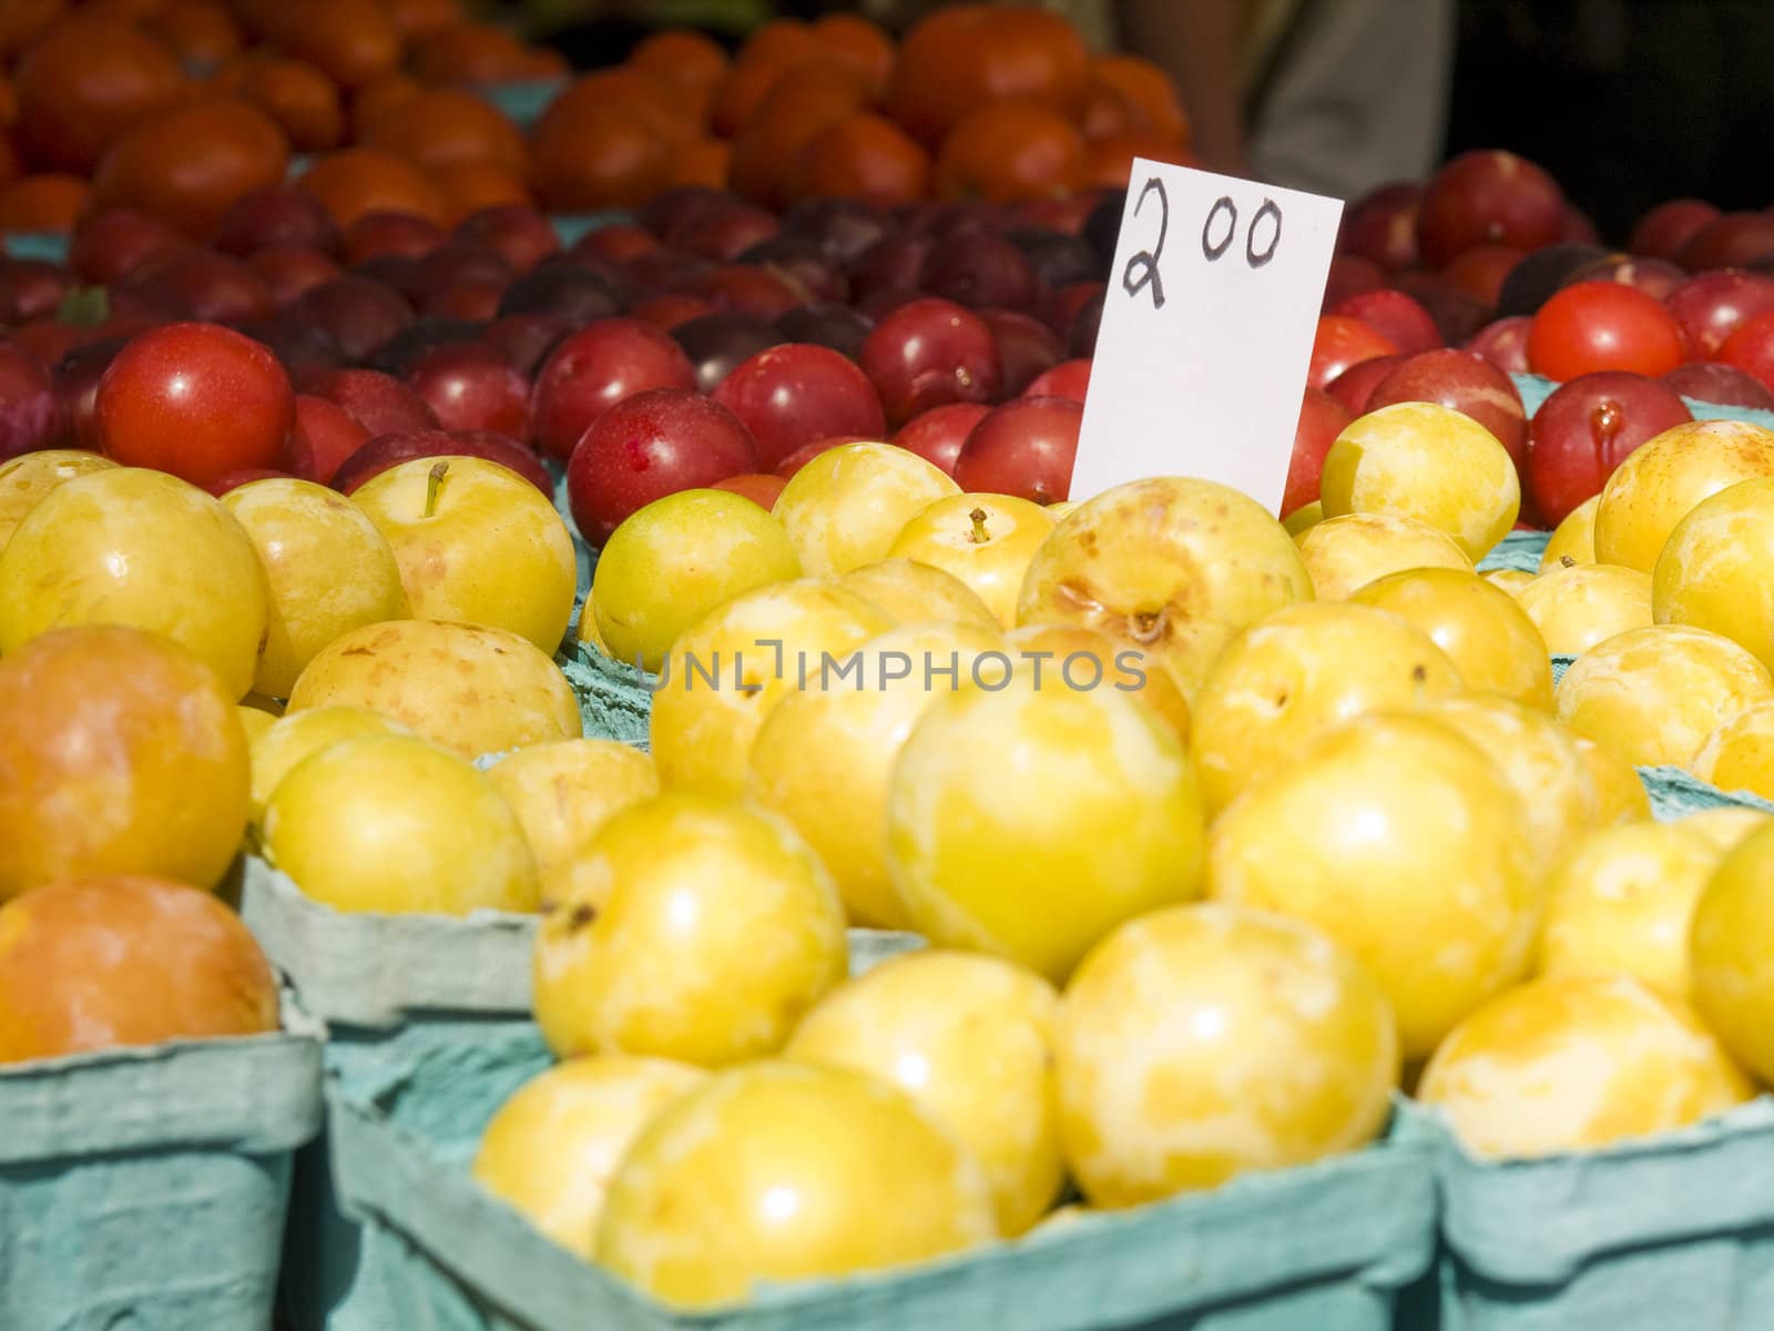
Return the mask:
<path fill-rule="evenodd" d="M 0 1327 L 268 1327 L 318 1026 L 0 1068 Z"/>

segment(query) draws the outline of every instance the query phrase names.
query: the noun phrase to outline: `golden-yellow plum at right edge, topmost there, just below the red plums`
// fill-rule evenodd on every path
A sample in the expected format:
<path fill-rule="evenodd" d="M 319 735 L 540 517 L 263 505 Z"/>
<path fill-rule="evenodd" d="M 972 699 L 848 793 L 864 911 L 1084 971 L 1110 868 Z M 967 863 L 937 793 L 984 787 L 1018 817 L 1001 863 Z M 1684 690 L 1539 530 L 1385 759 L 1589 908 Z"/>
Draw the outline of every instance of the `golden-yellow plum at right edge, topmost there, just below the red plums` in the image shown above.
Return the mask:
<path fill-rule="evenodd" d="M 1595 557 L 1650 573 L 1664 541 L 1703 500 L 1739 481 L 1774 476 L 1774 429 L 1747 421 L 1691 421 L 1627 454 L 1602 486 Z"/>

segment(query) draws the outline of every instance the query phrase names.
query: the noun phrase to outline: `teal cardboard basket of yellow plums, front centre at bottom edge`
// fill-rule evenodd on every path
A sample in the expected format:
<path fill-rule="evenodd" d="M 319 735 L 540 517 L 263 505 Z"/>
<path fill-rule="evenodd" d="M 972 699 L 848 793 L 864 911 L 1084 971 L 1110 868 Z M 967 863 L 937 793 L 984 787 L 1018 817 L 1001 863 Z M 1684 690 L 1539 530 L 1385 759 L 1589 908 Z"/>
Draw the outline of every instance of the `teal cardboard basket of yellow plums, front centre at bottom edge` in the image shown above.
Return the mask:
<path fill-rule="evenodd" d="M 328 1086 L 341 1200 L 406 1260 L 389 1326 L 452 1331 L 1384 1331 L 1432 1256 L 1423 1141 L 1391 1138 L 1194 1196 L 1082 1214 L 951 1260 L 772 1287 L 683 1315 L 553 1246 L 470 1177 L 488 1118 L 548 1065 L 513 1033 L 472 1063 L 408 1051 Z"/>

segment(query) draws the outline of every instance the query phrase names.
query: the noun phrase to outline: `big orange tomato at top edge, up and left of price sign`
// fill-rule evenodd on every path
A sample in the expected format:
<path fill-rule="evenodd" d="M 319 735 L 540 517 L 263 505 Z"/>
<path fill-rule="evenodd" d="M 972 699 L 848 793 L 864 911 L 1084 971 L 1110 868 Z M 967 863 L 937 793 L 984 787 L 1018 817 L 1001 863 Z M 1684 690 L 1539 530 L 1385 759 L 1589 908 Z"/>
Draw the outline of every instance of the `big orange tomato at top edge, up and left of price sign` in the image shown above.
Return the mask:
<path fill-rule="evenodd" d="M 1032 5 L 944 5 L 899 46 L 887 106 L 924 144 L 940 144 L 977 106 L 1017 98 L 1071 117 L 1089 83 L 1089 50 L 1064 18 Z"/>

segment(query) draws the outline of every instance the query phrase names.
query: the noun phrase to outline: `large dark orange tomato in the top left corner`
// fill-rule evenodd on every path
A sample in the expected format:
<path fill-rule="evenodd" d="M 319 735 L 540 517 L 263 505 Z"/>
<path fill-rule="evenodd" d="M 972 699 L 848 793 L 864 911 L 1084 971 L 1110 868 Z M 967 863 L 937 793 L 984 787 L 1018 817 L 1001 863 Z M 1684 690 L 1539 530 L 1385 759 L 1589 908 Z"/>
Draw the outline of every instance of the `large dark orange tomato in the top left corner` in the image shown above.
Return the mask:
<path fill-rule="evenodd" d="M 130 126 L 165 110 L 184 76 L 158 41 L 110 20 L 67 18 L 18 64 L 20 146 L 39 170 L 89 174 Z"/>

